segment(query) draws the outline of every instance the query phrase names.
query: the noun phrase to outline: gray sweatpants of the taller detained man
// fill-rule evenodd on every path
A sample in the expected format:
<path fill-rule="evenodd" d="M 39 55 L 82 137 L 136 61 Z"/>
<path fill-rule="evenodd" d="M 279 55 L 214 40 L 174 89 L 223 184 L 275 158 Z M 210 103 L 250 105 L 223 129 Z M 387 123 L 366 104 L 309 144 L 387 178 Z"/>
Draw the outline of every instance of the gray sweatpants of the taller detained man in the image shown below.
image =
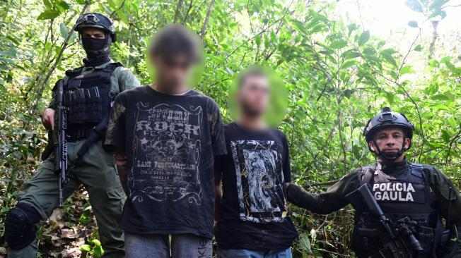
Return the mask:
<path fill-rule="evenodd" d="M 125 233 L 126 258 L 211 258 L 211 239 L 192 234 Z"/>

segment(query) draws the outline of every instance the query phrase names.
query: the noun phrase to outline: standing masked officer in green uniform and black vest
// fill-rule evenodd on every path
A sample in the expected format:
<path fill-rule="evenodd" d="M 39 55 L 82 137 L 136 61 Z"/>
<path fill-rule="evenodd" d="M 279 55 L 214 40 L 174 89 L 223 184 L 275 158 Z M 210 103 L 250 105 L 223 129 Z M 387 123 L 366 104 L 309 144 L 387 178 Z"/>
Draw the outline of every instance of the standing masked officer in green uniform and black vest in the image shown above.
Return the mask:
<path fill-rule="evenodd" d="M 139 86 L 139 81 L 129 69 L 110 60 L 110 44 L 116 40 L 110 18 L 100 13 L 86 13 L 78 18 L 75 30 L 86 51 L 86 59 L 83 59 L 84 66 L 67 70 L 62 78 L 69 164 L 63 195 L 66 199 L 78 185 L 85 185 L 98 222 L 104 257 L 124 257 L 124 236 L 119 225 L 124 192 L 115 159 L 112 152 L 103 148 L 102 136 L 112 100 L 119 92 Z M 43 124 L 49 129 L 54 128 L 57 108 L 54 99 L 42 115 Z M 37 255 L 37 225 L 47 219 L 58 204 L 54 154 L 48 152 L 42 159 L 33 178 L 23 185 L 18 204 L 6 217 L 5 237 L 11 258 Z"/>

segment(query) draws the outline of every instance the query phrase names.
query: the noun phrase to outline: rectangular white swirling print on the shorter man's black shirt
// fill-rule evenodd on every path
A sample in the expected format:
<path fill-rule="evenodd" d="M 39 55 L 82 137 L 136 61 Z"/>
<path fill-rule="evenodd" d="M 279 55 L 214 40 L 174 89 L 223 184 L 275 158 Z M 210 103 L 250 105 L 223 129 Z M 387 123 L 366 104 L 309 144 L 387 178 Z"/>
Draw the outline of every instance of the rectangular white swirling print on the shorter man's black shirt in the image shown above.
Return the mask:
<path fill-rule="evenodd" d="M 283 190 L 281 147 L 269 140 L 230 142 L 235 164 L 240 219 L 256 223 L 283 221 L 286 202 Z"/>

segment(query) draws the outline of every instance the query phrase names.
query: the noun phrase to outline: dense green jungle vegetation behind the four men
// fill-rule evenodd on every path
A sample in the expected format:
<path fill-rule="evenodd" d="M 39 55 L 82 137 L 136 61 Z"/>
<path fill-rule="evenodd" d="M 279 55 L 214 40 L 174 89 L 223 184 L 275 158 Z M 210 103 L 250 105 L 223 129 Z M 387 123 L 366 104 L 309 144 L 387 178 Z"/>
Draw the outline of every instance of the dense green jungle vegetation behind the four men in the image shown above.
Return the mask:
<path fill-rule="evenodd" d="M 374 161 L 361 133 L 383 106 L 416 125 L 409 159 L 438 166 L 460 185 L 461 23 L 458 18 L 443 33 L 438 26 L 461 4 L 385 1 L 404 3 L 398 8 L 419 20 L 408 19 L 383 36 L 371 29 L 373 14 L 363 7 L 371 2 L 376 1 L 1 0 L 0 235 L 23 180 L 40 164 L 47 142 L 40 113 L 51 88 L 64 70 L 81 66 L 84 51 L 71 30 L 88 11 L 115 20 L 119 40 L 112 59 L 142 83 L 149 82 L 144 53 L 159 28 L 182 23 L 197 32 L 206 66 L 195 88 L 216 99 L 226 122 L 228 89 L 237 73 L 255 64 L 272 68 L 289 92 L 279 127 L 291 145 L 293 180 L 313 192 Z M 345 6 L 361 16 L 344 15 Z M 295 257 L 354 255 L 348 248 L 351 209 L 318 216 L 291 208 L 300 233 Z M 100 256 L 84 189 L 42 224 L 39 239 L 42 257 Z"/>

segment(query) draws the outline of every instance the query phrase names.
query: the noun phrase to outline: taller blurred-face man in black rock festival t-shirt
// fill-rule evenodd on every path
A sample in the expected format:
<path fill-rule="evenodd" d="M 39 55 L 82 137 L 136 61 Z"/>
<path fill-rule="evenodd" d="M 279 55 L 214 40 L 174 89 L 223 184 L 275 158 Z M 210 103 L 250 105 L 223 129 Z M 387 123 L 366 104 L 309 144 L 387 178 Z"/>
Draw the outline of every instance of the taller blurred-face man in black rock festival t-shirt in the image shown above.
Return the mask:
<path fill-rule="evenodd" d="M 214 156 L 226 154 L 226 142 L 216 102 L 187 87 L 199 41 L 174 25 L 148 51 L 156 78 L 117 96 L 106 137 L 128 197 L 125 252 L 211 258 Z"/>

